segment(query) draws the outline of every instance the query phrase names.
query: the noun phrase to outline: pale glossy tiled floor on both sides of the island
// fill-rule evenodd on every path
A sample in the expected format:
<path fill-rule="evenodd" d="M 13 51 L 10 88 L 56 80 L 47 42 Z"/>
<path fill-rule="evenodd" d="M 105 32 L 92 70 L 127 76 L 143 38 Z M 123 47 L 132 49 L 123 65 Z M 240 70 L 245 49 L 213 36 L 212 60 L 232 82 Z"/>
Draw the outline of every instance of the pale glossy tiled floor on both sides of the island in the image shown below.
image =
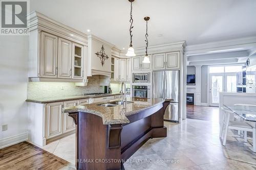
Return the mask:
<path fill-rule="evenodd" d="M 226 147 L 219 139 L 218 115 L 211 120 L 165 122 L 167 137 L 148 140 L 124 163 L 130 169 L 256 169 L 256 154 L 236 131 L 229 131 Z M 75 135 L 52 142 L 45 150 L 74 164 Z"/>

